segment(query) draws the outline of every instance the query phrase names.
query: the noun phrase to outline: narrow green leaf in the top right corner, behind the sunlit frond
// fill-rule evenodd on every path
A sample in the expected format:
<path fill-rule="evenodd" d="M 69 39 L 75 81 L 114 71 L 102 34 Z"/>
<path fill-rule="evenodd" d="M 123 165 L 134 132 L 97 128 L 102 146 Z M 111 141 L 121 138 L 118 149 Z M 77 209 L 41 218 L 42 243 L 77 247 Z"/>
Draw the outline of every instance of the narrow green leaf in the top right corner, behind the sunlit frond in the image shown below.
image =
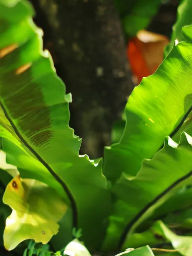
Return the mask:
<path fill-rule="evenodd" d="M 184 41 L 184 37 L 182 34 L 183 26 L 190 25 L 192 23 L 192 3 L 191 0 L 182 0 L 178 9 L 177 9 L 177 21 L 173 26 L 172 38 L 169 45 L 166 47 L 166 54 L 168 54 L 174 43 Z M 190 36 L 191 38 L 191 36 Z"/>

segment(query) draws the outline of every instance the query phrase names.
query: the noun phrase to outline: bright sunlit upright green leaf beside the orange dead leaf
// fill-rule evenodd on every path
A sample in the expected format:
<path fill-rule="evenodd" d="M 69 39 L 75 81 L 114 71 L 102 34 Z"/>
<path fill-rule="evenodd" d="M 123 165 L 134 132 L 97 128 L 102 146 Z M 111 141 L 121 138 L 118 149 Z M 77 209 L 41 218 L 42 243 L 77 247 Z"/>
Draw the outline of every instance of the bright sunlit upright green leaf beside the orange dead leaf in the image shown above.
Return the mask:
<path fill-rule="evenodd" d="M 188 30 L 192 40 L 192 26 Z M 112 181 L 122 172 L 136 175 L 143 159 L 154 156 L 192 109 L 192 42 L 186 40 L 131 93 L 124 134 L 105 149 L 104 174 Z"/>

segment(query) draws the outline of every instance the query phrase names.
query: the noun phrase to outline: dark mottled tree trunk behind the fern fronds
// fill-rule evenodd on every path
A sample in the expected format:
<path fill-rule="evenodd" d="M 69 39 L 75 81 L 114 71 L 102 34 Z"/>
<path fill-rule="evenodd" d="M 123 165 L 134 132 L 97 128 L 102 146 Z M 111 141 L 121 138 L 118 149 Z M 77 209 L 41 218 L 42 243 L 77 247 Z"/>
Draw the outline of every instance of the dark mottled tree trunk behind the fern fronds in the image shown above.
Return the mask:
<path fill-rule="evenodd" d="M 31 0 L 58 75 L 71 92 L 70 126 L 81 154 L 101 157 L 133 89 L 113 0 Z"/>

